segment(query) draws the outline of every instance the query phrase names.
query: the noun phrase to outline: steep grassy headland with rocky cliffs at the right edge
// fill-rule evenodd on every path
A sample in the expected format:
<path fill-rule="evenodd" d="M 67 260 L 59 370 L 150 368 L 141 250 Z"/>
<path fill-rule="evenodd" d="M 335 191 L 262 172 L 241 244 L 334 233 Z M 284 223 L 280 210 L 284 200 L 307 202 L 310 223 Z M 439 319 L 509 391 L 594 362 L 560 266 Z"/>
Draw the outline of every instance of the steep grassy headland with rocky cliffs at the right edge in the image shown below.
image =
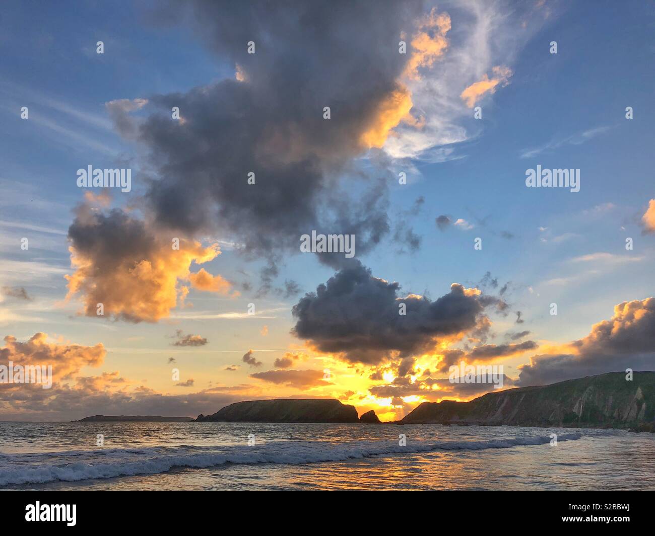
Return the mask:
<path fill-rule="evenodd" d="M 487 393 L 469 402 L 423 402 L 401 422 L 627 428 L 655 420 L 655 372 L 609 372 Z M 647 428 L 647 427 L 646 427 Z"/>

